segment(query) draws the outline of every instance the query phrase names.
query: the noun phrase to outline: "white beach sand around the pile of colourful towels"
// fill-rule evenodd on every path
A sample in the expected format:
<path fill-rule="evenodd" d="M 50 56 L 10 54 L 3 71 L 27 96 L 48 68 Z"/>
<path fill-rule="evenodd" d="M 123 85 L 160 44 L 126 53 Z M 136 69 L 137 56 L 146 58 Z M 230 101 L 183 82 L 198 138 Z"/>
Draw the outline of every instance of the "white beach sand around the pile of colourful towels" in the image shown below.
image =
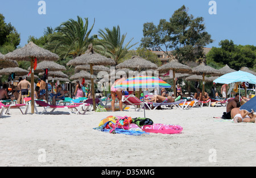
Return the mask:
<path fill-rule="evenodd" d="M 256 124 L 213 118 L 224 111 L 146 110 L 154 123 L 180 125 L 183 132 L 131 136 L 93 128 L 108 115 L 135 118 L 143 111 L 22 115 L 14 109 L 0 118 L 0 166 L 255 166 Z"/>

